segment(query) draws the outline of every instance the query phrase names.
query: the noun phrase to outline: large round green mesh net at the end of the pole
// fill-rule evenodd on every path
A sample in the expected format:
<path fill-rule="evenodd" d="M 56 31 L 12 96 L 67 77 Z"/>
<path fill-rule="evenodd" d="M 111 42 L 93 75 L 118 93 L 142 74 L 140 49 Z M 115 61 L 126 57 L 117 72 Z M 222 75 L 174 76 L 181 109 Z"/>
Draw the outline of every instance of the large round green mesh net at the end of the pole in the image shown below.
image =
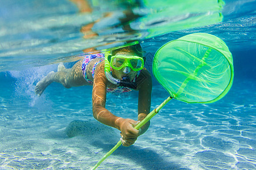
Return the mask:
<path fill-rule="evenodd" d="M 187 103 L 213 103 L 232 86 L 232 54 L 225 42 L 207 33 L 193 33 L 158 49 L 152 70 L 171 97 Z"/>

